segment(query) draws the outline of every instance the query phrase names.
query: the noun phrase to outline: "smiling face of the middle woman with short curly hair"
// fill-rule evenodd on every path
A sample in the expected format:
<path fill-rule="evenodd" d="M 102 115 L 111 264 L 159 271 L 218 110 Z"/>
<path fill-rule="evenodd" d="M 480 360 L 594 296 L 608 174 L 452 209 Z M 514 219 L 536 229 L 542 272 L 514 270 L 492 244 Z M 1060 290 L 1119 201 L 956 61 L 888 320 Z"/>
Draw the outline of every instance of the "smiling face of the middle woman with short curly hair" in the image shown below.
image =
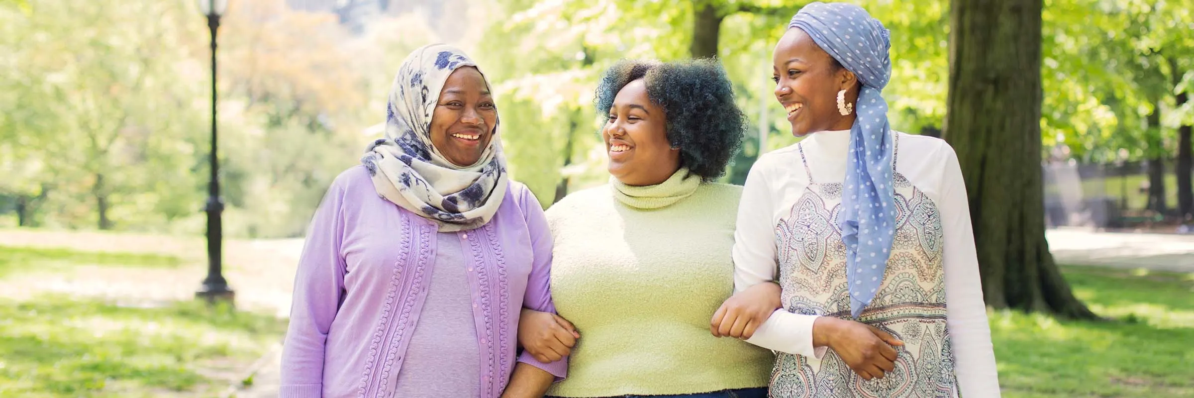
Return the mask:
<path fill-rule="evenodd" d="M 642 79 L 630 81 L 614 97 L 602 139 L 609 153 L 609 173 L 627 185 L 663 183 L 679 170 L 679 149 L 667 141 L 667 116 L 651 102 Z"/>

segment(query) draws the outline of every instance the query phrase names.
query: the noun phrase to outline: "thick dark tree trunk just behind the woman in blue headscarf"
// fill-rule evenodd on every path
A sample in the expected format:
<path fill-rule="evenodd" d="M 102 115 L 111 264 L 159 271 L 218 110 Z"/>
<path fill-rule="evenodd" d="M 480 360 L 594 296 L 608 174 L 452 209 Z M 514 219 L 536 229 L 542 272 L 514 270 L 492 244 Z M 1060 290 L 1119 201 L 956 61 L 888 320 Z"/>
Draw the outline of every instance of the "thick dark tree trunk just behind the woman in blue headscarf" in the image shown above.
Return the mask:
<path fill-rule="evenodd" d="M 1045 240 L 1042 0 L 952 0 L 943 135 L 970 196 L 983 293 L 996 308 L 1094 318 Z"/>

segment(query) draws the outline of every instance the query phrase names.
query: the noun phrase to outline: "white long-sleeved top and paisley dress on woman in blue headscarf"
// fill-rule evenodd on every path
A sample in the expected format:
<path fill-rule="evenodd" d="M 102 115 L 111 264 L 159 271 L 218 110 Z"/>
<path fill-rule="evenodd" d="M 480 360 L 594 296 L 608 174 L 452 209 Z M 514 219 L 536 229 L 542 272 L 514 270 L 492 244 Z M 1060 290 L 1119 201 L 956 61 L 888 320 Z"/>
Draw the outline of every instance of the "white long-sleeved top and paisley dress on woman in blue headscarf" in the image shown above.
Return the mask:
<path fill-rule="evenodd" d="M 875 381 L 863 381 L 812 338 L 818 317 L 850 318 L 836 227 L 850 131 L 811 134 L 751 169 L 734 232 L 734 289 L 767 281 L 783 287 L 783 308 L 747 339 L 778 355 L 774 397 L 999 396 L 956 155 L 942 140 L 892 134 L 897 231 L 875 300 L 857 320 L 906 345 L 898 372 Z"/>

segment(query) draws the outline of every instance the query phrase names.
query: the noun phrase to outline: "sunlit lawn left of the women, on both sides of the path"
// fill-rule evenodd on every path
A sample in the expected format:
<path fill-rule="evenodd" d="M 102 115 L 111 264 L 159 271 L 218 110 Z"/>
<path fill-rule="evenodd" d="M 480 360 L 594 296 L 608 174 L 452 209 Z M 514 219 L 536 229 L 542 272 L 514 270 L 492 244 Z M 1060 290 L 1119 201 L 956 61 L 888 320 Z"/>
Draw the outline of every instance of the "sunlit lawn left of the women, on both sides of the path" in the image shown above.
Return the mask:
<path fill-rule="evenodd" d="M 180 263 L 159 255 L 0 246 L 0 278 L 78 265 Z M 284 331 L 285 320 L 196 301 L 0 299 L 0 397 L 216 397 Z"/>

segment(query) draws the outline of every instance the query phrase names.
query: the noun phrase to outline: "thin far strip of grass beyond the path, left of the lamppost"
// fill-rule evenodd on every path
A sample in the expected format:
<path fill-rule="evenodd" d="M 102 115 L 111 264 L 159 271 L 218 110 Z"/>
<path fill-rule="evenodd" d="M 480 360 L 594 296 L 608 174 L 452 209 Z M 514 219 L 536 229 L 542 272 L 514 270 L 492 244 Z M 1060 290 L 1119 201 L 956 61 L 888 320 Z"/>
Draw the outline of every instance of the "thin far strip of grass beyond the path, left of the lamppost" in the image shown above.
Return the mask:
<path fill-rule="evenodd" d="M 181 264 L 178 257 L 154 253 L 0 246 L 0 277 L 13 271 L 55 271 L 79 265 L 178 268 Z"/>

